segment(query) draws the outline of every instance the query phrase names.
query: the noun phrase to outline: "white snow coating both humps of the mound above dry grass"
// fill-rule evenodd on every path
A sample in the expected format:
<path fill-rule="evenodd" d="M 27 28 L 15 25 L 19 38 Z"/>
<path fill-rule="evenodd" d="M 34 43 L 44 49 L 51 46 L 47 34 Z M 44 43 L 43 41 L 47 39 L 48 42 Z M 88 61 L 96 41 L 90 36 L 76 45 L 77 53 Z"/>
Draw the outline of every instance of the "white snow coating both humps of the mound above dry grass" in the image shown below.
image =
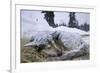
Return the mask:
<path fill-rule="evenodd" d="M 56 33 L 55 33 L 56 32 Z M 52 36 L 54 35 L 54 36 Z M 59 35 L 59 40 L 61 43 L 64 44 L 64 46 L 68 50 L 75 49 L 79 47 L 81 44 L 83 44 L 83 40 L 81 39 L 81 36 L 77 33 L 71 33 L 71 32 L 64 32 L 64 31 L 48 31 L 48 32 L 39 32 L 36 33 L 33 36 L 33 41 L 26 44 L 25 46 L 34 46 L 34 45 L 41 45 L 45 44 L 48 45 L 48 41 L 54 41 L 53 38 L 57 37 Z M 73 46 L 72 46 L 73 45 Z"/>

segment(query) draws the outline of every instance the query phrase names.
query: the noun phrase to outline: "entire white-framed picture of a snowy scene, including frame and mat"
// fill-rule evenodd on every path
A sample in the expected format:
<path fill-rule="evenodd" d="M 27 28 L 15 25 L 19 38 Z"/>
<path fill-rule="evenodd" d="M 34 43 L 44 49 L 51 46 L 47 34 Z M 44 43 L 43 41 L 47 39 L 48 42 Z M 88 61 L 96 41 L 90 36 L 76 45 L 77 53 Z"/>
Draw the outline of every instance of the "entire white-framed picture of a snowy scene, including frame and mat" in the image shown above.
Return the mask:
<path fill-rule="evenodd" d="M 13 0 L 10 15 L 11 73 L 63 72 L 96 65 L 94 6 Z"/>

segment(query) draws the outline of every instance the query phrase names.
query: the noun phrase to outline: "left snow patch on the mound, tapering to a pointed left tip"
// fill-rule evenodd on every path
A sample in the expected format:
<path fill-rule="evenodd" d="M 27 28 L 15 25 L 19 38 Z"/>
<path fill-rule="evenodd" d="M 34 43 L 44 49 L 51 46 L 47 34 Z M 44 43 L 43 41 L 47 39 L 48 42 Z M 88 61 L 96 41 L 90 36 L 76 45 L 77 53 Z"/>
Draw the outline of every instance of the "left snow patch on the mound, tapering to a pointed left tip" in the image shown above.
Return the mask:
<path fill-rule="evenodd" d="M 34 46 L 34 45 L 41 45 L 41 44 L 48 44 L 48 41 L 52 40 L 52 35 L 50 31 L 45 31 L 45 32 L 37 32 L 32 35 L 32 42 L 26 44 L 25 46 Z"/>

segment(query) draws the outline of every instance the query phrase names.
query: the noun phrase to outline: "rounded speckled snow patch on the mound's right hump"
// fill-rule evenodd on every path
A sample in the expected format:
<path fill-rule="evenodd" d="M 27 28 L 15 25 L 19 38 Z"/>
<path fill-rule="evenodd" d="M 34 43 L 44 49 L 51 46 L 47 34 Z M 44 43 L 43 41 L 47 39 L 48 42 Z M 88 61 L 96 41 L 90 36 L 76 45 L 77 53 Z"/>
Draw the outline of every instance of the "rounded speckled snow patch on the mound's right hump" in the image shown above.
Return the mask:
<path fill-rule="evenodd" d="M 58 31 L 59 39 L 61 43 L 67 48 L 67 50 L 73 50 L 83 44 L 81 36 L 77 33 Z"/>

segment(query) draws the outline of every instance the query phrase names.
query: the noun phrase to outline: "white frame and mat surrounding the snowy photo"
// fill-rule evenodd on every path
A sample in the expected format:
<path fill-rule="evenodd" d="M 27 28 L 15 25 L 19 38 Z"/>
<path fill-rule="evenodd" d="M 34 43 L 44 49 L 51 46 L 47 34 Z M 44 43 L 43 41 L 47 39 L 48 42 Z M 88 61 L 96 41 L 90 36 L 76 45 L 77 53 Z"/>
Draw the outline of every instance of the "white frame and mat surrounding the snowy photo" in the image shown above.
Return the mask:
<path fill-rule="evenodd" d="M 54 70 L 66 68 L 79 68 L 96 65 L 96 50 L 94 45 L 95 36 L 95 8 L 79 5 L 47 5 L 24 2 L 12 2 L 11 5 L 11 72 L 19 73 L 26 71 L 37 72 L 40 70 Z M 42 63 L 27 63 L 20 64 L 20 9 L 33 10 L 52 10 L 52 11 L 75 11 L 75 12 L 89 12 L 90 13 L 90 60 L 83 61 L 59 61 L 59 62 L 42 62 Z M 17 48 L 17 49 L 16 49 Z M 66 64 L 65 64 L 66 63 Z M 34 70 L 33 70 L 34 69 Z"/>

